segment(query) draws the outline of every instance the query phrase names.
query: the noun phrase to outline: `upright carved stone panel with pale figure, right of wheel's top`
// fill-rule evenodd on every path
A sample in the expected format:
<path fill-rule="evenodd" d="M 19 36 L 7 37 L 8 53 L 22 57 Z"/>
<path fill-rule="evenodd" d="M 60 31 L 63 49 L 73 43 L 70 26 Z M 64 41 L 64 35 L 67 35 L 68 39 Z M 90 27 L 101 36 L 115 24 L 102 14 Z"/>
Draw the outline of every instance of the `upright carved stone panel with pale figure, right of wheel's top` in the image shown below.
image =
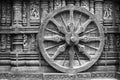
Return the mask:
<path fill-rule="evenodd" d="M 113 2 L 112 1 L 104 2 L 103 19 L 104 19 L 104 25 L 112 25 L 112 22 L 113 22 Z"/>

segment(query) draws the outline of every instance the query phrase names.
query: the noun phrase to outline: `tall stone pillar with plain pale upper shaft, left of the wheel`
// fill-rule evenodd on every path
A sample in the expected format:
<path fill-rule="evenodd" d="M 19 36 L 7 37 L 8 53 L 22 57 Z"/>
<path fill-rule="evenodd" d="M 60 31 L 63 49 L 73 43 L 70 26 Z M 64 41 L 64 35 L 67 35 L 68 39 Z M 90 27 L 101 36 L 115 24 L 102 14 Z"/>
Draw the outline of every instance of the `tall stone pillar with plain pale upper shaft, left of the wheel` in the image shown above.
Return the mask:
<path fill-rule="evenodd" d="M 19 28 L 22 27 L 22 1 L 13 1 L 13 26 L 15 33 L 19 33 Z M 18 70 L 22 65 L 25 65 L 24 58 L 21 60 L 20 56 L 23 56 L 23 35 L 12 35 L 12 58 L 11 65 L 12 70 Z"/>

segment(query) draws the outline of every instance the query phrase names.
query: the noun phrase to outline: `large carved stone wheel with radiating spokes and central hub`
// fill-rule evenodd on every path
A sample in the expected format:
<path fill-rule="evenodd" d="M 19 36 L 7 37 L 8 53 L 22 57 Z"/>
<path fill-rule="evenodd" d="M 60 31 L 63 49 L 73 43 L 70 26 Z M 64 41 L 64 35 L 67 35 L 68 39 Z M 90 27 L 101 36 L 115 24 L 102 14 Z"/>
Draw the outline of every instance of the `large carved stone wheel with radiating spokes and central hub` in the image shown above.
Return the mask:
<path fill-rule="evenodd" d="M 89 11 L 75 6 L 49 14 L 37 37 L 45 60 L 66 73 L 90 68 L 104 47 L 104 32 L 99 22 Z"/>

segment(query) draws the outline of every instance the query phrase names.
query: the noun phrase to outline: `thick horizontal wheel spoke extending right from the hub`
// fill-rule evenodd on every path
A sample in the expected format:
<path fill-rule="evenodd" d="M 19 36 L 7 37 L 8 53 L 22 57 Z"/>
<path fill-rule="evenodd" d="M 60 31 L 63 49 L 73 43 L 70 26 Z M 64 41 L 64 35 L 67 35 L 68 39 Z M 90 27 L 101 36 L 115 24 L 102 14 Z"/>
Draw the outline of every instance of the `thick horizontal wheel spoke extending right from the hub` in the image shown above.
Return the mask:
<path fill-rule="evenodd" d="M 100 41 L 101 37 L 82 36 L 79 37 L 79 40 L 83 42 L 93 42 L 93 41 Z"/>

